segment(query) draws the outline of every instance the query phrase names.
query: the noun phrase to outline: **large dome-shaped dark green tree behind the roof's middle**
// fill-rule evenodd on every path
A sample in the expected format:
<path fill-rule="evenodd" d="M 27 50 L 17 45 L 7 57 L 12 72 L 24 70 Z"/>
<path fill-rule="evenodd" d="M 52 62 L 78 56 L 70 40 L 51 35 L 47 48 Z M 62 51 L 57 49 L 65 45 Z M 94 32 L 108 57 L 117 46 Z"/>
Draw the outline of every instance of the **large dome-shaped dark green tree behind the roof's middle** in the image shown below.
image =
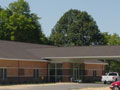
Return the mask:
<path fill-rule="evenodd" d="M 102 34 L 87 12 L 69 10 L 52 29 L 50 41 L 58 46 L 102 44 Z"/>

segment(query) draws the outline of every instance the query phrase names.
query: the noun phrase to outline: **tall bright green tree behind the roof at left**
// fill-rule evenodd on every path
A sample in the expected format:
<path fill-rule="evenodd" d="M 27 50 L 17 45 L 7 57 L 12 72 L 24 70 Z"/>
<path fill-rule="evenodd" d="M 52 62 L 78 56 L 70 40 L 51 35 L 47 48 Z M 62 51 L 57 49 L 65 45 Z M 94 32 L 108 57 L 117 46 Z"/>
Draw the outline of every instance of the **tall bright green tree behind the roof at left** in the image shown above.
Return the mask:
<path fill-rule="evenodd" d="M 25 0 L 18 0 L 10 3 L 9 7 L 3 10 L 0 15 L 0 19 L 2 19 L 2 29 L 0 31 L 5 33 L 0 33 L 0 39 L 44 43 L 46 37 L 38 21 L 40 18 L 36 14 L 30 12 L 30 6 Z"/>

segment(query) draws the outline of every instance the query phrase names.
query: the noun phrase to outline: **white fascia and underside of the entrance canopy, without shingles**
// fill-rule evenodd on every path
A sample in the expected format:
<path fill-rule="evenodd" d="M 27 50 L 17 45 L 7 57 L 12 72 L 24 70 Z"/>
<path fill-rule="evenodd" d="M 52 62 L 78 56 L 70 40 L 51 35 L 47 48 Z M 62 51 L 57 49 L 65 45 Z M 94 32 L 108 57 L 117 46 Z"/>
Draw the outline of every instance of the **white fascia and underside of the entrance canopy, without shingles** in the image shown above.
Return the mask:
<path fill-rule="evenodd" d="M 120 60 L 120 56 L 43 57 L 42 59 L 50 60 L 51 63 L 83 63 L 84 60 Z"/>

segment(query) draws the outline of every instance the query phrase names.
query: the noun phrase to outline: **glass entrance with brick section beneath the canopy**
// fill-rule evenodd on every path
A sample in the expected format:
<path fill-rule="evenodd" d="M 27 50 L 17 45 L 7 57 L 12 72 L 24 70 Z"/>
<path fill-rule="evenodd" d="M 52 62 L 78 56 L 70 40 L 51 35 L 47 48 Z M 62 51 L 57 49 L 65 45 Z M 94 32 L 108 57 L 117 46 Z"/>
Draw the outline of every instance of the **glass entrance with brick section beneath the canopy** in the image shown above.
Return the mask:
<path fill-rule="evenodd" d="M 51 63 L 48 67 L 49 82 L 78 81 L 82 76 L 82 64 L 73 63 Z"/>

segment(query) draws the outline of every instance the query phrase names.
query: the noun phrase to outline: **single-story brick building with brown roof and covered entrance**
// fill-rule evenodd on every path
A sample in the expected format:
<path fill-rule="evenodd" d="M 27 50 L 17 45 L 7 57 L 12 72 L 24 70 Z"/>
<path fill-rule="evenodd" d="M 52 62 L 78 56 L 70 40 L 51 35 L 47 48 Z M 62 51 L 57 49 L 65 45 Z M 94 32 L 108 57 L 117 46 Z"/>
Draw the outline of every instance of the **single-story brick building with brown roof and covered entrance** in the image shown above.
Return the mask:
<path fill-rule="evenodd" d="M 0 83 L 96 80 L 120 46 L 56 47 L 0 40 Z"/>

